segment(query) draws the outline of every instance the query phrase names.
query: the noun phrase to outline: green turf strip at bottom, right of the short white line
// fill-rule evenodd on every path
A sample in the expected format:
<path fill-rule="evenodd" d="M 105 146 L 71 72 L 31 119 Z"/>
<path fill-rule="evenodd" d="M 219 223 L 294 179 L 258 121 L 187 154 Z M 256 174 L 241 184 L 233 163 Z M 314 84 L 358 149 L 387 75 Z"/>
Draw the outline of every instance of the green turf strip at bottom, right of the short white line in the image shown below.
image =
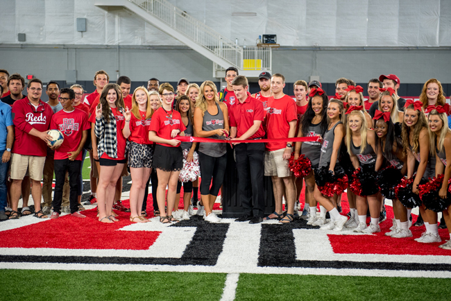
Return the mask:
<path fill-rule="evenodd" d="M 451 279 L 241 274 L 235 300 L 451 300 Z"/>

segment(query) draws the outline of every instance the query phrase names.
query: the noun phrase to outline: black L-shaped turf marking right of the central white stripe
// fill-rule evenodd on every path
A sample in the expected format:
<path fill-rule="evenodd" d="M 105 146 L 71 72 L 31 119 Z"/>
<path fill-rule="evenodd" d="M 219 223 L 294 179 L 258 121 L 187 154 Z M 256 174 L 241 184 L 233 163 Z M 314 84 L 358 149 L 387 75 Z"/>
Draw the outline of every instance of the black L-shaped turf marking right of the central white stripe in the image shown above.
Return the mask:
<path fill-rule="evenodd" d="M 293 229 L 318 229 L 318 227 L 307 225 L 307 221 L 303 220 L 297 220 L 286 225 L 262 225 L 258 266 L 277 268 L 359 268 L 366 270 L 451 270 L 451 264 L 296 260 Z M 312 252 L 317 251 L 319 250 L 312 249 Z"/>

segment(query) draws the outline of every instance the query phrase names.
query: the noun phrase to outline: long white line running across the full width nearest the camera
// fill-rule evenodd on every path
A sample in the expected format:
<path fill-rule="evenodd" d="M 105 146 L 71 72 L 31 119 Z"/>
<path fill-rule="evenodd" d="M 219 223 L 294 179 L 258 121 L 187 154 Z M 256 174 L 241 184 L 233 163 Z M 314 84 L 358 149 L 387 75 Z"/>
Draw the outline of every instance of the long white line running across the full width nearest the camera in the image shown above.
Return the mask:
<path fill-rule="evenodd" d="M 366 270 L 352 268 L 277 268 L 257 267 L 246 268 L 216 268 L 216 266 L 169 266 L 145 264 L 49 264 L 0 262 L 0 268 L 22 270 L 117 270 L 117 271 L 146 271 L 146 272 L 188 272 L 188 273 L 227 273 L 227 274 L 291 274 L 291 275 L 334 275 L 334 276 L 368 276 L 368 277 L 426 277 L 451 278 L 450 271 L 421 270 L 414 273 L 411 270 Z"/>

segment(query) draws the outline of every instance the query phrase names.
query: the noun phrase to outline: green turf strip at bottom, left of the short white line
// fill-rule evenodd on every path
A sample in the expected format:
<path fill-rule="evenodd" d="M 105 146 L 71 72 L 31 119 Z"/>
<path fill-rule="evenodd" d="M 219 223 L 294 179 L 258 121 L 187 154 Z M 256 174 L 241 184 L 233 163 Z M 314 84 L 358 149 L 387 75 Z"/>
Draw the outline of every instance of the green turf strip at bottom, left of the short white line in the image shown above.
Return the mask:
<path fill-rule="evenodd" d="M 226 274 L 0 270 L 0 300 L 220 300 Z"/>

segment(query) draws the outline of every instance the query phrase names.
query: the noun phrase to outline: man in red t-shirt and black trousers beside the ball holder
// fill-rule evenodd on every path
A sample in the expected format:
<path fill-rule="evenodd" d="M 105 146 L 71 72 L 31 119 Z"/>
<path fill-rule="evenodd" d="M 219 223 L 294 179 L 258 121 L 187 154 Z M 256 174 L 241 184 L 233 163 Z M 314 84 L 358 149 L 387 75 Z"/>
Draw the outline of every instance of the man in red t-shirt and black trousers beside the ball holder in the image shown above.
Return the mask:
<path fill-rule="evenodd" d="M 90 129 L 90 123 L 87 121 L 87 113 L 76 110 L 72 103 L 75 100 L 73 89 L 63 88 L 59 97 L 62 110 L 53 114 L 50 128 L 60 130 L 64 141 L 56 148 L 54 157 L 55 167 L 55 193 L 53 194 L 53 214 L 50 218 L 58 218 L 61 214 L 62 187 L 65 184 L 65 175 L 69 173 L 70 185 L 70 210 L 71 216 L 85 217 L 78 213 L 78 175 L 82 160 L 82 150 L 87 138 L 87 131 Z"/>

